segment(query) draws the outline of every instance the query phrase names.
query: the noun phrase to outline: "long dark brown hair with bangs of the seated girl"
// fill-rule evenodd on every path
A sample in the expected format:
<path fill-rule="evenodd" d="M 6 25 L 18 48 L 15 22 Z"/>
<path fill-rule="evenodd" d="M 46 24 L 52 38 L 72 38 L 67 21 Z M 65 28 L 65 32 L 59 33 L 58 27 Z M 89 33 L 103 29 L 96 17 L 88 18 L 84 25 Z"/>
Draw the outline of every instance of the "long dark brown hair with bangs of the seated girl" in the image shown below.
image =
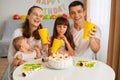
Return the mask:
<path fill-rule="evenodd" d="M 53 43 L 54 38 L 57 38 L 57 37 L 58 37 L 57 25 L 66 25 L 66 26 L 67 26 L 67 30 L 66 30 L 66 32 L 65 32 L 64 35 L 66 36 L 66 38 L 67 38 L 68 42 L 70 43 L 71 47 L 72 47 L 73 49 L 75 49 L 75 43 L 74 43 L 74 40 L 73 40 L 73 36 L 72 36 L 72 34 L 71 34 L 71 32 L 70 32 L 70 24 L 69 24 L 69 21 L 68 21 L 66 18 L 64 18 L 64 17 L 58 17 L 58 18 L 55 20 L 54 29 L 53 29 L 53 36 L 52 36 L 52 38 L 51 38 L 51 46 L 52 46 L 52 43 Z M 67 47 L 66 47 L 66 50 L 68 50 Z"/>

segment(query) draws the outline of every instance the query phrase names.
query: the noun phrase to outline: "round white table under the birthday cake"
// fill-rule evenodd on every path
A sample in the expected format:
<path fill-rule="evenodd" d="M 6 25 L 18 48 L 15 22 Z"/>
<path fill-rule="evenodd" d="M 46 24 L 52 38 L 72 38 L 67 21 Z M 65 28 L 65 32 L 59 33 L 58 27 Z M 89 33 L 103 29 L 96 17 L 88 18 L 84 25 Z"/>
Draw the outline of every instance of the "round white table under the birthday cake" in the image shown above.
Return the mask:
<path fill-rule="evenodd" d="M 80 59 L 74 57 L 74 62 Z M 29 63 L 42 63 L 40 59 Z M 68 69 L 55 70 L 43 64 L 43 69 L 34 71 L 30 76 L 22 76 L 22 66 L 15 69 L 13 73 L 14 80 L 114 80 L 115 73 L 111 67 L 97 61 L 95 67 L 76 67 L 72 66 Z"/>

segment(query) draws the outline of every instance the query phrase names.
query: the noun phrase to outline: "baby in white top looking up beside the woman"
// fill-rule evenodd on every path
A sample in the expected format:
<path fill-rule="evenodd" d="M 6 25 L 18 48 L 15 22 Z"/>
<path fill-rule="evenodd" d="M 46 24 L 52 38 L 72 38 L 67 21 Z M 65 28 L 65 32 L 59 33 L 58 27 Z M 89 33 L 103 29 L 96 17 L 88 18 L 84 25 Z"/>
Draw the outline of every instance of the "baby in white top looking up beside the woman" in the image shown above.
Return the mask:
<path fill-rule="evenodd" d="M 24 62 L 41 57 L 39 47 L 35 45 L 34 50 L 31 49 L 30 42 L 23 36 L 16 37 L 13 40 L 13 46 L 17 51 L 13 59 L 13 66 L 19 66 Z"/>

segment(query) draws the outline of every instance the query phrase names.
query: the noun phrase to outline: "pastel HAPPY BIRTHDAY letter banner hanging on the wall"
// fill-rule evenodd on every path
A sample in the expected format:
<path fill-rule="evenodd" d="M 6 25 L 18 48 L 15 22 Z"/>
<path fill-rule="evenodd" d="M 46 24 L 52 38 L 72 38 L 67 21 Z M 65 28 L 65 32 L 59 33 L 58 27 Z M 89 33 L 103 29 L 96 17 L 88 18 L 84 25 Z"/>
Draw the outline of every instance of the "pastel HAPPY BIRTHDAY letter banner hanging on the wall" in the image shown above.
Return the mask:
<path fill-rule="evenodd" d="M 36 0 L 36 3 L 43 8 L 44 14 L 68 14 L 68 5 L 74 0 Z M 83 0 L 80 0 L 83 1 Z"/>

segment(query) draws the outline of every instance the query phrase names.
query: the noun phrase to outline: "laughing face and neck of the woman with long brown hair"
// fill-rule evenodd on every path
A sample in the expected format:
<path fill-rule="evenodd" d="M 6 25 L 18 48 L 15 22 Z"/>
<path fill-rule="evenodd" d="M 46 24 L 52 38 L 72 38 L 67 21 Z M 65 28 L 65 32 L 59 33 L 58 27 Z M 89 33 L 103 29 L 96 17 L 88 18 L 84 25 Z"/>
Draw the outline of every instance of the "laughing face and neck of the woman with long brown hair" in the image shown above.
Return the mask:
<path fill-rule="evenodd" d="M 27 19 L 29 21 L 30 30 L 36 30 L 40 25 L 43 17 L 43 10 L 40 8 L 33 8 L 28 14 Z"/>

